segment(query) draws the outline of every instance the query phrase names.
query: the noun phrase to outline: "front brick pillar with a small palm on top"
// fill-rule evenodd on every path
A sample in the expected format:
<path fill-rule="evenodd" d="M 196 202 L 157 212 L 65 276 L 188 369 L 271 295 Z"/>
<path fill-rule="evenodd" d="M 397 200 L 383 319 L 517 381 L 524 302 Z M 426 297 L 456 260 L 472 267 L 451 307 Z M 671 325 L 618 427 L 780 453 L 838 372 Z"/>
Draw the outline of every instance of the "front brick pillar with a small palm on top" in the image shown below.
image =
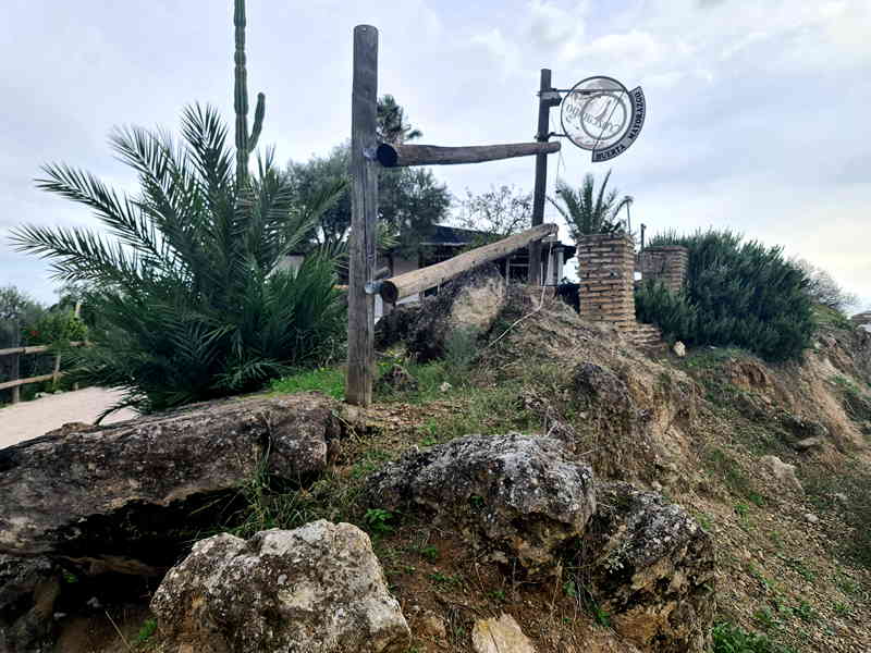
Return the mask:
<path fill-rule="evenodd" d="M 627 234 L 592 234 L 578 242 L 580 317 L 635 326 L 635 243 Z"/>

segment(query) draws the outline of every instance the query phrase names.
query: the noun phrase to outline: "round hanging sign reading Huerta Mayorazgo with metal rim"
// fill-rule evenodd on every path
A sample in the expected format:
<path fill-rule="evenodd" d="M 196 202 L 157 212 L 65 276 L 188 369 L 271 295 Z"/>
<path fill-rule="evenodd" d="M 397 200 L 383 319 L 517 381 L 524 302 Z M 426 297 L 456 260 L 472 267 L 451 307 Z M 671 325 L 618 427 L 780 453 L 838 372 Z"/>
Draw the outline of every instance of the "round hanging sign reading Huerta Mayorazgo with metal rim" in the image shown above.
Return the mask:
<path fill-rule="evenodd" d="M 560 121 L 568 139 L 592 151 L 593 161 L 608 161 L 635 143 L 645 124 L 641 87 L 626 90 L 612 77 L 587 77 L 563 98 Z"/>

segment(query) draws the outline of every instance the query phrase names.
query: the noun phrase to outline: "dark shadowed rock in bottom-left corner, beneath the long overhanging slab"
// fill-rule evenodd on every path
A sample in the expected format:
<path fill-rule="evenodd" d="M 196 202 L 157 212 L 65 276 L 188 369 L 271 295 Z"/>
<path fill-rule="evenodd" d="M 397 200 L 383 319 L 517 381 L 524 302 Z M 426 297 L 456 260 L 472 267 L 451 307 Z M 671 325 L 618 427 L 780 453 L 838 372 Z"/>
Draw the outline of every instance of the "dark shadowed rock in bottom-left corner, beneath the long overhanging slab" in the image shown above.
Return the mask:
<path fill-rule="evenodd" d="M 52 563 L 0 554 L 0 651 L 52 651 L 58 594 L 60 571 Z"/>

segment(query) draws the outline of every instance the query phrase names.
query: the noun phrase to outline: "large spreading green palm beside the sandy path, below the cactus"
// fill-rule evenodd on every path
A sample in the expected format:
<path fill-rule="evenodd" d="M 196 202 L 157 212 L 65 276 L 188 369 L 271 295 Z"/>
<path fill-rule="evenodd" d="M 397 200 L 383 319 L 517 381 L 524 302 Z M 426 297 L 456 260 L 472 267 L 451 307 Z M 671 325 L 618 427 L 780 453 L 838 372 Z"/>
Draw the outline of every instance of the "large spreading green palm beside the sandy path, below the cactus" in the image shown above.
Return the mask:
<path fill-rule="evenodd" d="M 105 325 L 76 354 L 71 380 L 124 389 L 123 405 L 158 410 L 256 390 L 315 364 L 341 334 L 333 260 L 278 270 L 324 208 L 300 207 L 272 163 L 238 184 L 228 132 L 189 107 L 183 139 L 132 127 L 111 144 L 139 177 L 121 194 L 94 175 L 47 165 L 39 187 L 94 210 L 114 241 L 84 229 L 13 230 L 20 250 L 52 259 L 54 275 L 101 288 Z"/>

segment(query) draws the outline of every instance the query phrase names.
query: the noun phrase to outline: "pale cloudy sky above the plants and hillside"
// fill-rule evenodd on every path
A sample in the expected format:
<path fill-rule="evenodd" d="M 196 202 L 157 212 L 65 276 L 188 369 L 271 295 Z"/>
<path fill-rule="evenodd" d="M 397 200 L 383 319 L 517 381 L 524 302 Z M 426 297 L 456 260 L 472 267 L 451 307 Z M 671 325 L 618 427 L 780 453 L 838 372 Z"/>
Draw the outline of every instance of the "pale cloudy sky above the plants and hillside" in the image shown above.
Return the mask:
<path fill-rule="evenodd" d="M 232 0 L 3 0 L 0 286 L 50 303 L 48 264 L 15 252 L 30 223 L 98 229 L 35 187 L 65 162 L 122 189 L 118 125 L 175 128 L 211 103 L 232 119 Z M 539 71 L 557 88 L 609 75 L 641 86 L 637 143 L 608 163 L 563 141 L 556 178 L 587 172 L 635 198 L 648 234 L 728 227 L 829 270 L 871 308 L 871 0 L 248 0 L 248 87 L 266 93 L 260 143 L 324 155 L 351 133 L 352 33 L 379 29 L 379 94 L 420 143 L 531 140 Z M 552 112 L 559 128 L 559 110 Z M 434 170 L 457 197 L 531 189 L 531 158 Z M 545 220 L 557 220 L 549 208 Z M 858 307 L 857 307 L 858 308 Z"/>

